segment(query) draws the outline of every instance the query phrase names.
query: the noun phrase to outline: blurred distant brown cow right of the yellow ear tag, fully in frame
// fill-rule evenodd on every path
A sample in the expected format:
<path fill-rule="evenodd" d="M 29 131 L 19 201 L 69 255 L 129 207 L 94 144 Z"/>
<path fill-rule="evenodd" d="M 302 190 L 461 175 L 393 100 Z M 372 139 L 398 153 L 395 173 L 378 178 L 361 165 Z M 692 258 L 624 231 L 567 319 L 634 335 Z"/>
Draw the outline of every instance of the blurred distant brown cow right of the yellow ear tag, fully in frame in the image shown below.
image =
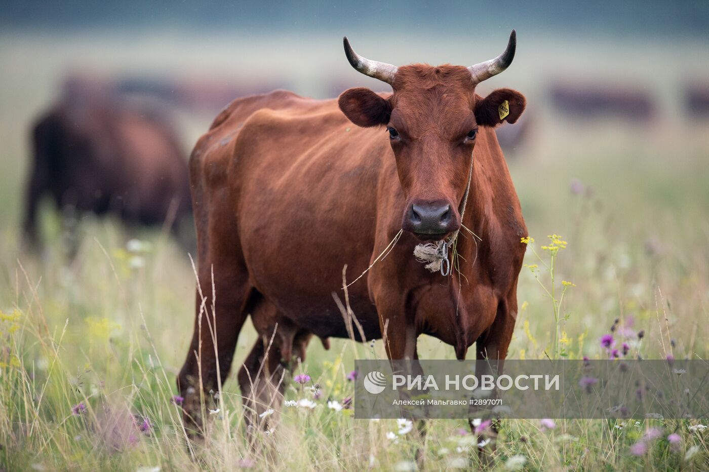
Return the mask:
<path fill-rule="evenodd" d="M 549 88 L 557 111 L 574 118 L 624 118 L 647 121 L 655 116 L 652 95 L 640 87 L 610 87 L 585 83 L 557 83 Z"/>

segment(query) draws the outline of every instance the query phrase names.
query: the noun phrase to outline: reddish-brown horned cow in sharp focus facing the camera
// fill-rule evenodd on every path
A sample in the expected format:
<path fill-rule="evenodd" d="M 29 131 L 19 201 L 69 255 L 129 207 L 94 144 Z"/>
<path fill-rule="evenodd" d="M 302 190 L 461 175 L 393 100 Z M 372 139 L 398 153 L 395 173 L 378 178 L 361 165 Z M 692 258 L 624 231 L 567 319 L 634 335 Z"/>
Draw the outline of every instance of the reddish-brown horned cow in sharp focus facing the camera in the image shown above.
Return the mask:
<path fill-rule="evenodd" d="M 348 337 L 331 296 L 341 293 L 342 268 L 350 279 L 362 274 L 402 228 L 349 288 L 364 337 L 384 335 L 391 359 L 417 358 L 424 333 L 458 359 L 473 343 L 479 359 L 506 356 L 527 230 L 493 128 L 514 123 L 525 98 L 510 89 L 482 98 L 475 87 L 508 67 L 514 31 L 502 55 L 472 67 L 394 67 L 357 55 L 347 38 L 345 52 L 393 94 L 238 99 L 191 155 L 201 296 L 178 377 L 191 427 L 202 424 L 200 381 L 203 391 L 220 388 L 247 315 L 260 337 L 238 378 L 258 412 L 269 401 L 262 381 L 279 381 L 284 352 L 303 355 L 313 334 Z M 458 233 L 462 225 L 479 239 Z M 413 256 L 422 240 L 458 234 L 452 276 Z"/>

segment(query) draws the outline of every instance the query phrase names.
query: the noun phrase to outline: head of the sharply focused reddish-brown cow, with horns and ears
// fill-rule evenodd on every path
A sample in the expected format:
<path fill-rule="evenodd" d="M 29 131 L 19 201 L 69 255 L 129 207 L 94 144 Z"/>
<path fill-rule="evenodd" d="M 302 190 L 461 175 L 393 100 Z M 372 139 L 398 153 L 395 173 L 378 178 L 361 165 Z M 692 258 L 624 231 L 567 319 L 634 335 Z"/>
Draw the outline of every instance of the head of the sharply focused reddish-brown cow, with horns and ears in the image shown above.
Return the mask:
<path fill-rule="evenodd" d="M 459 229 L 479 126 L 515 123 L 524 111 L 518 91 L 498 89 L 484 99 L 475 94 L 477 84 L 510 65 L 515 45 L 513 30 L 505 52 L 471 67 L 395 67 L 357 55 L 345 38 L 352 67 L 391 84 L 393 94 L 349 89 L 340 95 L 340 109 L 355 125 L 386 126 L 406 198 L 402 227 L 422 240 Z"/>

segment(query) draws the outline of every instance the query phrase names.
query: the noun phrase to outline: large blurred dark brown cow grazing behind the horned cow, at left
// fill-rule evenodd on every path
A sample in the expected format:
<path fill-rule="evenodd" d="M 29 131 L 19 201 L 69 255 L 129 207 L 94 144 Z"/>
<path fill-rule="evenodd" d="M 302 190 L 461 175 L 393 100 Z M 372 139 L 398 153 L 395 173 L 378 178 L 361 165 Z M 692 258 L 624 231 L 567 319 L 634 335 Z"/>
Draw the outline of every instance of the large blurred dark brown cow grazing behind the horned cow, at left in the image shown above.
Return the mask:
<path fill-rule="evenodd" d="M 69 79 L 31 138 L 23 223 L 29 245 L 40 244 L 37 212 L 45 194 L 59 210 L 191 227 L 187 164 L 172 127 L 160 112 L 114 94 L 110 83 Z"/>

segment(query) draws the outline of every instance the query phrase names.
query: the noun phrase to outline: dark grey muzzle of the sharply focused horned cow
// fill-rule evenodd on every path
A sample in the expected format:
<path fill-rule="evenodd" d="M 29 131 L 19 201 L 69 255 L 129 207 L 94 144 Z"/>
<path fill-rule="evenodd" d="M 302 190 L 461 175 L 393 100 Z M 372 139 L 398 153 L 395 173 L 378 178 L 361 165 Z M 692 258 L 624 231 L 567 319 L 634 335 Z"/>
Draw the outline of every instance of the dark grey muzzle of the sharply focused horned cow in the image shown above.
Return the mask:
<path fill-rule="evenodd" d="M 402 228 L 420 240 L 441 240 L 459 227 L 454 209 L 442 201 L 412 203 L 403 217 Z"/>

